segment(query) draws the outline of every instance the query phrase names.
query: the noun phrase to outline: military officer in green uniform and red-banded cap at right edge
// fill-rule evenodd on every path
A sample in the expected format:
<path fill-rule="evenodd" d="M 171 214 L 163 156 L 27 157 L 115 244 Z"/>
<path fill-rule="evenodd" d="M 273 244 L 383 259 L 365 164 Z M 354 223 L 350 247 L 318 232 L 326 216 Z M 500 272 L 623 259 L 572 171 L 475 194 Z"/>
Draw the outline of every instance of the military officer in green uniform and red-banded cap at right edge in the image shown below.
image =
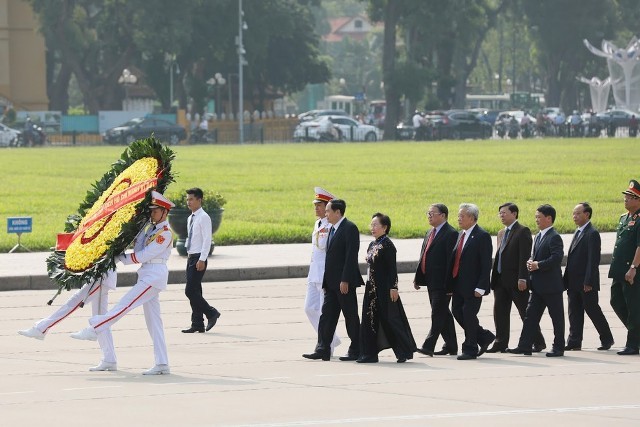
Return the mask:
<path fill-rule="evenodd" d="M 629 182 L 624 194 L 627 213 L 620 216 L 609 277 L 611 307 L 627 328 L 627 343 L 620 355 L 638 354 L 640 348 L 640 183 Z"/>

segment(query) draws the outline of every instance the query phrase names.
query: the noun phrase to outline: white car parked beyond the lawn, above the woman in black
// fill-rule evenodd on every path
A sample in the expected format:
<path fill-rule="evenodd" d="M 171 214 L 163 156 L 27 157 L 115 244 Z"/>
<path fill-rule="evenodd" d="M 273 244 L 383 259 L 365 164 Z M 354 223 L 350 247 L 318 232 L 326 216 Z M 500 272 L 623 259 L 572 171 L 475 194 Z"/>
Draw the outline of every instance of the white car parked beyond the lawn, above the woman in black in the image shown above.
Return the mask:
<path fill-rule="evenodd" d="M 322 116 L 317 120 L 305 121 L 296 126 L 293 131 L 294 141 L 320 141 L 321 129 L 326 121 L 331 119 L 333 126 L 338 129 L 341 141 L 377 141 L 382 138 L 382 131 L 375 126 L 362 124 L 346 116 Z"/>

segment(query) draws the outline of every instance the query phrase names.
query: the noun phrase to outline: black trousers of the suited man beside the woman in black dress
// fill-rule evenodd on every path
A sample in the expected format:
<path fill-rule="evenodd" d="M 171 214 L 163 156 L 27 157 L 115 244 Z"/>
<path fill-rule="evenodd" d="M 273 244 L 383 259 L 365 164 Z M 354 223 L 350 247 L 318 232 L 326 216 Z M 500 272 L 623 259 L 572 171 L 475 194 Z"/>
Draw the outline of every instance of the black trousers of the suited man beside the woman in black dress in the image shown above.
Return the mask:
<path fill-rule="evenodd" d="M 340 289 L 324 290 L 324 302 L 318 323 L 318 343 L 315 351 L 322 354 L 331 353 L 331 341 L 333 341 L 333 334 L 338 326 L 340 312 L 344 316 L 347 335 L 351 340 L 348 354 L 358 357 L 360 356 L 360 316 L 358 315 L 358 298 L 354 287 L 349 287 L 349 292 L 346 294 L 340 293 Z"/>

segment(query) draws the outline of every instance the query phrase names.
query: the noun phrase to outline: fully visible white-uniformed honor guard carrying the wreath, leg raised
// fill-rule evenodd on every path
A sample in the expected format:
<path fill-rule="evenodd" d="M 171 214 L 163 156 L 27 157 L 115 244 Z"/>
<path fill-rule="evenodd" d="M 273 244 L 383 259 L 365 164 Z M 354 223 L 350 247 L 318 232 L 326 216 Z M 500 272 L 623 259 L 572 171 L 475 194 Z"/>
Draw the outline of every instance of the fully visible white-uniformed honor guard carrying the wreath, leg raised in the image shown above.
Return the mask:
<path fill-rule="evenodd" d="M 167 260 L 171 255 L 173 234 L 169 229 L 167 214 L 173 206 L 175 205 L 162 194 L 157 191 L 152 192 L 149 224 L 136 237 L 134 251 L 118 255 L 116 258 L 116 261 L 124 264 L 141 264 L 138 269 L 138 282 L 111 310 L 89 319 L 91 326 L 74 337 L 88 340 L 97 338 L 101 348 L 113 345 L 109 342 L 111 336 L 105 334 L 105 331 L 129 311 L 142 305 L 155 356 L 155 365 L 144 371 L 143 375 L 162 375 L 170 372 L 158 295 L 167 288 L 169 279 Z M 115 365 L 104 366 L 104 368 L 100 370 L 115 370 Z"/>

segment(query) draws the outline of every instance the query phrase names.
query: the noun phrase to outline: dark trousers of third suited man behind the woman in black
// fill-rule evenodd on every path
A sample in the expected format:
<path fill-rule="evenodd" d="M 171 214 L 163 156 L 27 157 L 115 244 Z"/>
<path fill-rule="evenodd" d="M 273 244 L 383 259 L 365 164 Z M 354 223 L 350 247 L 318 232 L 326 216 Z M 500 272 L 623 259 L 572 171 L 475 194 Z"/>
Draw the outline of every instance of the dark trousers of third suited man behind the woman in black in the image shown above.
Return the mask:
<path fill-rule="evenodd" d="M 493 290 L 493 321 L 496 326 L 496 343 L 500 348 L 508 348 L 511 329 L 511 304 L 515 304 L 520 319 L 524 323 L 529 304 L 529 291 L 520 291 L 517 282 L 504 284 L 498 281 Z M 533 343 L 540 348 L 546 347 L 544 336 L 540 331 L 540 325 L 536 325 Z"/>

